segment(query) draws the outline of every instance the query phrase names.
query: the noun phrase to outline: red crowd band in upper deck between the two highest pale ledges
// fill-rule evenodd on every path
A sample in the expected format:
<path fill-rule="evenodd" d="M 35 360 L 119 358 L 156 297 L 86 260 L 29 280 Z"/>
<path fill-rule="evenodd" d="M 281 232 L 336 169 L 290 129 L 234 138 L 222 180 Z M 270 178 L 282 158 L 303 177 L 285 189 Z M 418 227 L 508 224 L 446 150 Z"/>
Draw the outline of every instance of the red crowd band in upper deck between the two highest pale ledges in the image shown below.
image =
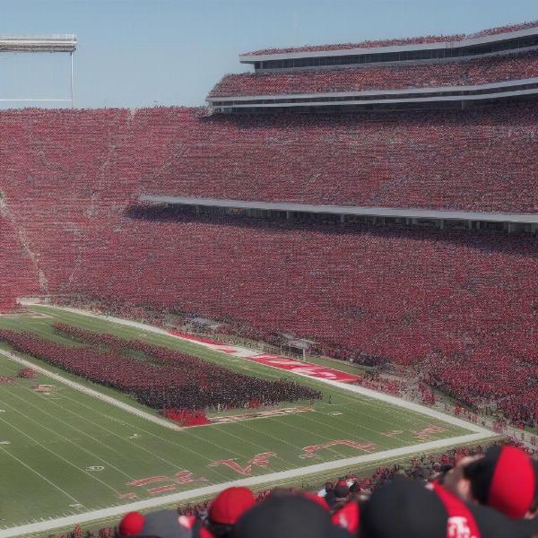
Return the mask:
<path fill-rule="evenodd" d="M 538 54 L 456 59 L 438 64 L 361 66 L 345 69 L 227 74 L 211 97 L 404 90 L 474 86 L 538 76 Z"/>

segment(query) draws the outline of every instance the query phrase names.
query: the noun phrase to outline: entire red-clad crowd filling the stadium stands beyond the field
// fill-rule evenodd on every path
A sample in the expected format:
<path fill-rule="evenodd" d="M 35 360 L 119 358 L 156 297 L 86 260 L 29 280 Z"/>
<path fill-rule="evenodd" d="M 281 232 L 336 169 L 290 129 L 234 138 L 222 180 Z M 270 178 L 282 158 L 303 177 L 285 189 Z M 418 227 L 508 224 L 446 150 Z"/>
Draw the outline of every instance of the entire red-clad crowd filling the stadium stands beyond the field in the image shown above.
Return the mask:
<path fill-rule="evenodd" d="M 507 31 L 528 37 L 533 29 Z M 213 95 L 248 91 L 251 80 L 253 91 L 266 93 L 295 85 L 333 91 L 339 84 L 499 82 L 534 77 L 535 54 L 232 75 Z M 318 112 L 0 113 L 0 195 L 9 215 L 0 219 L 9 275 L 0 305 L 12 305 L 15 294 L 82 295 L 230 321 L 262 337 L 288 332 L 338 358 L 419 367 L 431 385 L 467 403 L 499 399 L 508 415 L 534 423 L 538 399 L 529 395 L 538 389 L 528 381 L 538 368 L 534 235 L 236 219 L 188 208 L 163 215 L 139 203 L 152 193 L 538 211 L 535 100 Z M 474 379 L 471 371 L 483 375 Z"/>

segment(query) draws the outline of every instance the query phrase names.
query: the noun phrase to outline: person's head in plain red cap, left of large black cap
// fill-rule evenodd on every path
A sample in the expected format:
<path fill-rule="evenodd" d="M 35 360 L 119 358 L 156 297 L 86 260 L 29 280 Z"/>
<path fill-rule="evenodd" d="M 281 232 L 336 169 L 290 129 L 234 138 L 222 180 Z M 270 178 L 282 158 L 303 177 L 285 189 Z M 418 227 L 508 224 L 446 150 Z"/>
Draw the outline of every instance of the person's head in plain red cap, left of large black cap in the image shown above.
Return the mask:
<path fill-rule="evenodd" d="M 213 499 L 207 513 L 207 527 L 216 538 L 230 536 L 240 516 L 256 504 L 248 488 L 228 488 Z"/>

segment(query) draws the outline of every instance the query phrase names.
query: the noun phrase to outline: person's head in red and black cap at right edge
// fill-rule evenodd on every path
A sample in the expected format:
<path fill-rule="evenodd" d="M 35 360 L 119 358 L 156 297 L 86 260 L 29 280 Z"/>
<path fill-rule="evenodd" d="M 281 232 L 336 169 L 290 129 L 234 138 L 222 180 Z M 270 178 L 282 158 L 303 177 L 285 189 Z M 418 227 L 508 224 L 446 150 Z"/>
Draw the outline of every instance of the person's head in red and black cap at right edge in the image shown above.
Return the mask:
<path fill-rule="evenodd" d="M 517 447 L 491 447 L 464 458 L 445 477 L 460 499 L 496 508 L 513 519 L 533 517 L 538 508 L 538 464 Z"/>

